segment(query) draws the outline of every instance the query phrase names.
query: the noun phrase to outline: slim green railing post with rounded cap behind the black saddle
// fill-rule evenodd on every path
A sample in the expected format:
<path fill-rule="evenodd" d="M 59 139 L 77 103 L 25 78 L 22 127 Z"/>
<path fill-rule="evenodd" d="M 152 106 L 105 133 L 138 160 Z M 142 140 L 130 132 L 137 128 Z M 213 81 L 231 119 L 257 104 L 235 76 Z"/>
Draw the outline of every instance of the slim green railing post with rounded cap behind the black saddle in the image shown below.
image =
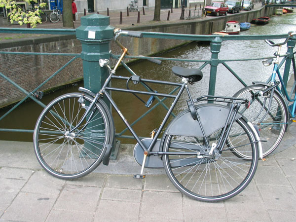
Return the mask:
<path fill-rule="evenodd" d="M 220 37 L 216 37 L 213 41 L 211 41 L 210 46 L 212 57 L 208 94 L 213 96 L 215 95 L 217 67 L 219 64 L 218 54 L 222 46 L 222 39 Z"/>

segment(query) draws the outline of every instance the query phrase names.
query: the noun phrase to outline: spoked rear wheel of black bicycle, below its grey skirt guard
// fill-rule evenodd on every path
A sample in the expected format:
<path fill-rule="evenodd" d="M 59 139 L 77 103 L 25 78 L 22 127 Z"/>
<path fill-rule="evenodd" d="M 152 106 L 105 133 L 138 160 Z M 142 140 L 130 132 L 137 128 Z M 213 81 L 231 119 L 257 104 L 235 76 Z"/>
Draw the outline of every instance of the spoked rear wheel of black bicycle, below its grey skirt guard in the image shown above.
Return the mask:
<path fill-rule="evenodd" d="M 222 129 L 212 133 L 207 140 L 217 143 L 221 131 Z M 182 132 L 179 135 L 169 135 L 165 132 L 163 151 L 175 152 L 164 154 L 162 157 L 165 171 L 173 185 L 186 196 L 204 202 L 219 202 L 240 193 L 251 182 L 256 172 L 258 147 L 254 132 L 243 117 L 233 123 L 229 138 L 239 141 L 237 146 L 241 145 L 241 148 L 252 153 L 253 158 L 247 161 L 237 157 L 227 144 L 221 156 L 219 151 L 214 151 L 215 155 L 208 157 L 184 155 L 186 149 L 189 152 L 194 148 L 203 151 L 203 138 L 184 136 Z M 180 152 L 180 155 L 176 155 L 176 152 Z"/>

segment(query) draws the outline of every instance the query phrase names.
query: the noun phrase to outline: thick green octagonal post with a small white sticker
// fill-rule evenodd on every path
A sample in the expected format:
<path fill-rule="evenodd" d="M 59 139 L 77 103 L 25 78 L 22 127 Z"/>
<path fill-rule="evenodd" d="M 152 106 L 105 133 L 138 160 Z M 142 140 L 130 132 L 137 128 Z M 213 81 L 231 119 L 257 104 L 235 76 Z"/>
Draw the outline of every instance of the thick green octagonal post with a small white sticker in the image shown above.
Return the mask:
<path fill-rule="evenodd" d="M 81 60 L 84 87 L 92 92 L 98 92 L 109 75 L 106 67 L 100 67 L 99 59 L 110 59 L 110 42 L 113 37 L 113 29 L 114 27 L 110 26 L 110 17 L 100 14 L 82 16 L 81 26 L 76 29 L 76 38 L 82 46 Z M 99 127 L 94 127 L 98 124 L 100 122 L 89 123 L 85 129 L 85 135 L 96 137 L 96 131 L 101 130 Z M 99 141 L 100 139 L 92 138 L 91 140 Z M 93 150 L 90 142 L 86 144 L 88 144 L 86 147 L 94 153 L 99 152 Z"/>

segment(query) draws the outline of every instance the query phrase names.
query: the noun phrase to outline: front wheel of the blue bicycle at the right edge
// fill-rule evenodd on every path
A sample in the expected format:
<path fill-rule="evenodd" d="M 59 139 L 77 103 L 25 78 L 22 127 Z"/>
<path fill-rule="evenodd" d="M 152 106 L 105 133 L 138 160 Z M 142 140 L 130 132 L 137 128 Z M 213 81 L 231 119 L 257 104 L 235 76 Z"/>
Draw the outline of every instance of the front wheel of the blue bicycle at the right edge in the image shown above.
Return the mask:
<path fill-rule="evenodd" d="M 270 101 L 270 92 L 267 92 L 266 95 L 258 96 L 258 99 L 254 99 L 255 93 L 263 90 L 265 90 L 263 85 L 250 85 L 239 90 L 233 97 L 245 98 L 251 101 L 248 109 L 242 106 L 239 112 L 254 126 L 258 127 L 260 140 L 267 140 L 267 142 L 261 143 L 263 157 L 266 157 L 277 148 L 283 139 L 288 125 L 288 111 L 283 97 L 274 90 L 270 111 L 268 111 L 263 121 L 259 122 L 266 113 L 266 110 L 261 111 L 262 101 L 266 98 L 267 105 L 265 107 L 268 107 Z M 259 112 L 260 114 L 257 116 Z M 249 158 L 249 156 L 241 154 L 238 150 L 234 149 L 233 151 L 242 158 Z"/>

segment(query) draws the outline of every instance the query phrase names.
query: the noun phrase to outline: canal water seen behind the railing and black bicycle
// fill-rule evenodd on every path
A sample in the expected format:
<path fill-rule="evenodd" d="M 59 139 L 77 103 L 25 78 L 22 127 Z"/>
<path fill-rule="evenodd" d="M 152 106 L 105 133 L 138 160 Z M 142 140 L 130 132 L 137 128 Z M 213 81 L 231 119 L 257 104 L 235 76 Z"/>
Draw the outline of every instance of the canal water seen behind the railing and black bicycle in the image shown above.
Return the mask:
<path fill-rule="evenodd" d="M 245 32 L 241 32 L 240 35 L 272 35 L 272 34 L 287 34 L 289 31 L 296 31 L 296 13 L 289 13 L 282 16 L 272 16 L 269 24 L 265 26 L 252 25 L 251 29 Z M 281 39 L 283 40 L 283 39 Z M 281 40 L 275 40 L 276 42 Z M 268 46 L 263 40 L 248 40 L 248 41 L 223 41 L 221 52 L 219 53 L 219 59 L 249 59 L 249 58 L 262 58 L 272 56 L 276 48 Z M 282 53 L 287 51 L 286 46 L 283 47 Z M 160 55 L 160 57 L 168 58 L 182 58 L 182 59 L 194 59 L 194 60 L 207 60 L 211 58 L 210 46 L 193 42 L 180 47 L 176 50 L 167 52 Z M 140 62 L 131 65 L 132 70 L 139 74 L 142 78 L 153 78 L 165 81 L 179 81 L 180 78 L 172 74 L 171 68 L 173 66 L 181 66 L 187 68 L 199 68 L 203 63 L 196 62 L 176 62 L 176 61 L 163 61 L 161 65 L 155 65 L 148 61 Z M 248 85 L 252 84 L 252 81 L 265 81 L 272 71 L 272 66 L 264 67 L 260 60 L 256 61 L 238 61 L 227 62 L 227 65 L 238 74 Z M 190 92 L 194 98 L 208 94 L 210 66 L 206 66 L 203 70 L 203 79 L 194 85 L 190 85 Z M 283 71 L 282 71 L 283 72 Z M 118 75 L 130 76 L 125 69 L 119 69 Z M 74 84 L 68 88 L 56 91 L 50 95 L 46 95 L 42 98 L 41 102 L 44 104 L 49 103 L 54 98 L 68 92 L 77 91 L 79 86 L 83 86 L 83 83 Z M 126 87 L 126 82 L 113 81 L 114 87 Z M 149 86 L 158 92 L 168 93 L 173 90 L 172 87 L 164 87 L 163 85 L 149 84 Z M 129 85 L 131 89 L 144 89 L 139 85 Z M 222 65 L 218 66 L 217 81 L 216 81 L 216 95 L 232 96 L 236 91 L 241 89 L 243 85 L 227 71 Z M 148 99 L 148 96 L 141 96 L 144 100 Z M 135 96 L 128 93 L 112 92 L 112 98 L 122 111 L 125 118 L 132 123 L 138 119 L 143 113 L 149 109 L 144 106 Z M 185 110 L 187 95 L 184 92 L 180 102 L 174 110 L 177 114 L 180 111 Z M 172 99 L 167 99 L 165 104 L 169 107 Z M 154 102 L 154 104 L 156 104 Z M 4 119 L 0 121 L 0 128 L 15 128 L 15 129 L 34 129 L 37 117 L 42 108 L 35 102 L 28 102 L 17 108 L 10 113 Z M 0 116 L 5 112 L 0 111 Z M 135 131 L 144 137 L 149 136 L 149 132 L 158 128 L 162 122 L 166 110 L 159 105 L 156 109 L 150 112 L 145 118 L 137 122 L 133 128 Z M 114 121 L 116 127 L 116 133 L 120 133 L 125 129 L 125 125 L 118 115 L 114 113 Z M 130 135 L 129 131 L 124 135 Z M 32 133 L 0 133 L 0 140 L 13 140 L 13 141 L 29 141 L 32 142 Z M 123 143 L 134 143 L 135 140 L 120 139 Z"/>

